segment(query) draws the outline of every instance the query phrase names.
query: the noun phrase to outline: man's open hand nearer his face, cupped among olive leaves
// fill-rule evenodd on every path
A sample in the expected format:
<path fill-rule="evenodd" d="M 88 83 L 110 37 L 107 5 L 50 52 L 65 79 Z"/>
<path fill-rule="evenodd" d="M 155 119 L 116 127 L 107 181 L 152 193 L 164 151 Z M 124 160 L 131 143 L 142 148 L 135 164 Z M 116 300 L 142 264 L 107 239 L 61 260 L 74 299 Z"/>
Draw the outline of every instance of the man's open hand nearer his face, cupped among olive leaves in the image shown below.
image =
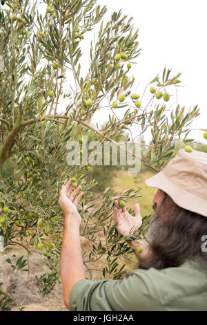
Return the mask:
<path fill-rule="evenodd" d="M 126 207 L 119 208 L 119 198 L 115 198 L 114 221 L 117 223 L 116 229 L 119 234 L 132 235 L 142 223 L 139 204 L 135 204 L 135 216 L 131 216 Z"/>

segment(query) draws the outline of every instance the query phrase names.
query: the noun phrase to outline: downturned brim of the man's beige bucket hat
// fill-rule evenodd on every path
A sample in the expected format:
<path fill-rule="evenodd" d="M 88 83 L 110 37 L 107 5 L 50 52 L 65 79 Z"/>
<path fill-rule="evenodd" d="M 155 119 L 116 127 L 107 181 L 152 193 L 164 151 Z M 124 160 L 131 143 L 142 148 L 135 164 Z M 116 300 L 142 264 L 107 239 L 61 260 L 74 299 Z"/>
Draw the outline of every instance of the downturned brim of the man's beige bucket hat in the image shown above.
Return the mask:
<path fill-rule="evenodd" d="M 149 187 L 157 187 L 166 192 L 166 194 L 168 194 L 170 198 L 179 205 L 179 207 L 201 214 L 201 216 L 207 216 L 206 200 L 188 192 L 183 187 L 179 187 L 177 184 L 166 178 L 162 171 L 155 176 L 148 178 L 145 183 Z"/>

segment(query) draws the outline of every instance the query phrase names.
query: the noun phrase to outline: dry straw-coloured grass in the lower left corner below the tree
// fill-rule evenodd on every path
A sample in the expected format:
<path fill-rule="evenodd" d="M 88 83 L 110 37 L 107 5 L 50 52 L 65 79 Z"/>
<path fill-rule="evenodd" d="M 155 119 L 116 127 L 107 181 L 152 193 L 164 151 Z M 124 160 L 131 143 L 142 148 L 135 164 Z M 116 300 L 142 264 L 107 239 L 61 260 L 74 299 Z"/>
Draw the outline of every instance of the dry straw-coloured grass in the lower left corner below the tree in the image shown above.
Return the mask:
<path fill-rule="evenodd" d="M 14 300 L 14 308 L 17 310 L 18 306 L 23 306 L 26 311 L 61 311 L 67 310 L 63 303 L 63 289 L 60 284 L 57 284 L 52 290 L 52 293 L 42 298 L 38 293 L 39 288 L 35 284 L 36 279 L 32 273 L 28 277 L 28 272 L 12 270 L 10 265 L 6 262 L 8 257 L 16 254 L 20 257 L 25 254 L 22 250 L 12 250 L 12 253 L 0 257 L 0 282 L 5 285 L 2 289 L 8 293 Z M 36 275 L 41 275 L 47 270 L 46 261 L 39 254 L 32 254 L 30 256 L 30 267 Z"/>

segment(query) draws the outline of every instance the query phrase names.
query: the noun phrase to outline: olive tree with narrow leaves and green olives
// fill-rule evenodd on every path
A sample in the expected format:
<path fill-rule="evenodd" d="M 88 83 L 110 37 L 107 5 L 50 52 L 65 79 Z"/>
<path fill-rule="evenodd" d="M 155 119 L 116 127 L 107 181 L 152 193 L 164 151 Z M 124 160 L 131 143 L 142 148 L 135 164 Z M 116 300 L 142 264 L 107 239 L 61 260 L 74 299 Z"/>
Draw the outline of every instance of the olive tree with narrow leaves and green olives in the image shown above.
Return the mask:
<path fill-rule="evenodd" d="M 121 279 L 123 259 L 133 253 L 128 245 L 132 238 L 115 230 L 108 189 L 101 203 L 92 202 L 92 167 L 67 165 L 67 142 L 81 143 L 90 131 L 102 145 L 107 140 L 120 147 L 120 137 L 136 143 L 137 136 L 150 130 L 150 145 L 141 142 L 141 162 L 156 172 L 172 156 L 177 139 L 184 145 L 192 140 L 189 124 L 199 114 L 197 106 L 186 112 L 173 102 L 170 92 L 179 86 L 180 73 L 171 76 L 167 68 L 149 80 L 142 94 L 135 93 L 138 30 L 121 10 L 105 21 L 106 10 L 96 0 L 10 0 L 0 9 L 0 232 L 5 252 L 15 245 L 26 251 L 27 256 L 8 258 L 15 270 L 32 272 L 30 254 L 46 259 L 48 272 L 37 277 L 43 295 L 59 281 L 63 214 L 57 200 L 69 177 L 84 192 L 79 211 L 81 237 L 90 243 L 90 250 L 83 250 L 87 277 L 93 278 L 97 269 L 100 277 Z M 84 74 L 86 38 L 91 39 L 90 63 Z M 94 126 L 92 116 L 106 107 L 108 121 Z M 122 118 L 117 110 L 123 111 Z M 139 192 L 129 189 L 119 195 L 136 201 Z"/>

